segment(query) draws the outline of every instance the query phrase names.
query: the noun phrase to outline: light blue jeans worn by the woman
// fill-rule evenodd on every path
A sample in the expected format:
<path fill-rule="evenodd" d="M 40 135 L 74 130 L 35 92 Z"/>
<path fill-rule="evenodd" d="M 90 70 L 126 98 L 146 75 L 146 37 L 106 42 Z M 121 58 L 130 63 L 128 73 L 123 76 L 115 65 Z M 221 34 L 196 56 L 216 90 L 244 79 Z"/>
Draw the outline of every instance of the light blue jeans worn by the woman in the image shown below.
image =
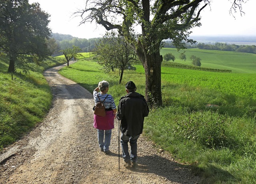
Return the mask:
<path fill-rule="evenodd" d="M 105 141 L 104 141 L 104 132 L 105 132 Z M 112 129 L 110 130 L 98 129 L 98 141 L 99 141 L 100 149 L 104 149 L 104 151 L 109 150 L 111 134 L 112 134 Z"/>

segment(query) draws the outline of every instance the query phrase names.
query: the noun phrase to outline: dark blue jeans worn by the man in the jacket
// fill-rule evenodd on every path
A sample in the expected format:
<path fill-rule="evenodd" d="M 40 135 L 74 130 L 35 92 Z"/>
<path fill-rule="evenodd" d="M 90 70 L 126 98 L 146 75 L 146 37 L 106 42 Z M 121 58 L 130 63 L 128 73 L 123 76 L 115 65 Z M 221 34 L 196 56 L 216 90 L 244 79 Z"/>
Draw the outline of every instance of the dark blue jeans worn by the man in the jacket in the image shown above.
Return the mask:
<path fill-rule="evenodd" d="M 125 162 L 136 162 L 137 160 L 137 140 L 140 137 L 140 135 L 136 135 L 134 137 L 129 137 L 121 134 L 121 146 L 122 146 L 122 157 Z M 130 141 L 130 155 L 128 150 L 128 142 Z"/>

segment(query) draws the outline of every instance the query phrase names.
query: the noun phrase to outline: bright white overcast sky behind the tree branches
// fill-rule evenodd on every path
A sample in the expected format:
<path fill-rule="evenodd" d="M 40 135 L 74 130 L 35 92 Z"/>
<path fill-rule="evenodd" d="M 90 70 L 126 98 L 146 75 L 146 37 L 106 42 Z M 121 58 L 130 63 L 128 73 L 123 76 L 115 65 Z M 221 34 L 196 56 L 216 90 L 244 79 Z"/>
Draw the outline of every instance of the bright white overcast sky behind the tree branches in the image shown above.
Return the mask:
<path fill-rule="evenodd" d="M 244 0 L 242 6 L 245 15 L 238 10 L 230 15 L 232 0 L 212 0 L 201 12 L 201 27 L 191 29 L 194 36 L 256 36 L 255 7 L 256 0 Z M 42 10 L 50 14 L 49 27 L 53 33 L 68 34 L 78 38 L 102 37 L 106 29 L 95 22 L 79 26 L 81 17 L 72 16 L 74 12 L 82 9 L 85 0 L 29 0 L 29 3 L 38 2 Z"/>

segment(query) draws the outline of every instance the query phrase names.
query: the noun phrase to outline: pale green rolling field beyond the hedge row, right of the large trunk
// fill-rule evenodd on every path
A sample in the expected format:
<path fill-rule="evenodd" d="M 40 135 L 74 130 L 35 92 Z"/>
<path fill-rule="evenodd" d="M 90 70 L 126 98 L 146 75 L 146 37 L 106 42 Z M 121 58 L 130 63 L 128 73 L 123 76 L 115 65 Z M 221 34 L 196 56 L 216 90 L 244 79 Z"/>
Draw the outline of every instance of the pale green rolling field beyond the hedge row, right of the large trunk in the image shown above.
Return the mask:
<path fill-rule="evenodd" d="M 180 51 L 182 53 L 183 51 Z M 232 70 L 232 73 L 256 73 L 256 54 L 205 49 L 186 49 L 186 61 L 181 61 L 177 49 L 163 48 L 161 54 L 172 53 L 176 63 L 192 65 L 190 56 L 202 59 L 201 67 Z M 171 61 L 172 62 L 172 61 Z"/>

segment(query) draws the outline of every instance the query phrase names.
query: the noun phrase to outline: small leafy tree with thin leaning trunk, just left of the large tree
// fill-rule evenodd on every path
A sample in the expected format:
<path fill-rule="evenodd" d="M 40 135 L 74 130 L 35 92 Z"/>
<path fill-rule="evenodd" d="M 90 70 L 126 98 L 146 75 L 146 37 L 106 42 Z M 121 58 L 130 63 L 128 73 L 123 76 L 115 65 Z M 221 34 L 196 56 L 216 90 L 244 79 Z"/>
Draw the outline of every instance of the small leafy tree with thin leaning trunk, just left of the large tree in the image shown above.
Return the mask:
<path fill-rule="evenodd" d="M 119 84 L 122 82 L 124 70 L 131 69 L 136 55 L 132 47 L 126 43 L 124 37 L 116 35 L 113 31 L 106 33 L 104 37 L 96 43 L 95 52 L 100 65 L 104 66 L 106 72 L 118 68 L 121 71 Z"/>

